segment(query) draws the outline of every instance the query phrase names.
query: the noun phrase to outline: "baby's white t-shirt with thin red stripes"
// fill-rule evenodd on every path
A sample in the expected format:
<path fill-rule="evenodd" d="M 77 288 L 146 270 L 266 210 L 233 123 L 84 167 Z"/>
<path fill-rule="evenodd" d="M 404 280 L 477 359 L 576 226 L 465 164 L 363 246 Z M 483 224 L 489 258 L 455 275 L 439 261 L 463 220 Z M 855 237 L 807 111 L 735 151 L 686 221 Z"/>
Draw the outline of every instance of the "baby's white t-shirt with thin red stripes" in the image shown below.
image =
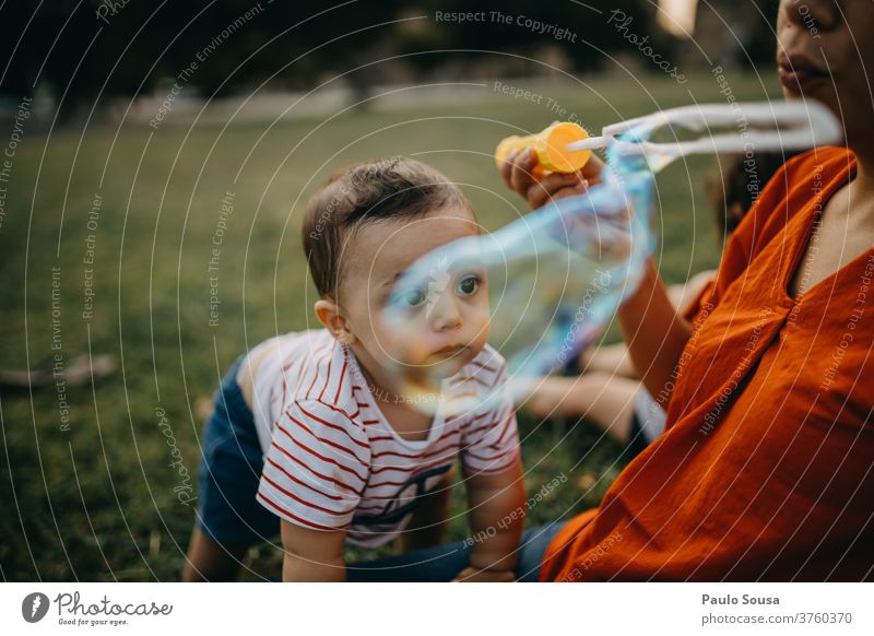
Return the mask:
<path fill-rule="evenodd" d="M 506 364 L 488 345 L 442 381 L 420 441 L 394 432 L 355 355 L 327 330 L 288 333 L 261 348 L 268 352 L 256 372 L 252 409 L 264 450 L 258 499 L 292 523 L 381 545 L 404 529 L 416 497 L 440 484 L 456 457 L 469 473 L 499 473 L 519 457 L 509 399 L 441 413 L 453 397 L 501 394 L 492 389 L 504 381 Z"/>

